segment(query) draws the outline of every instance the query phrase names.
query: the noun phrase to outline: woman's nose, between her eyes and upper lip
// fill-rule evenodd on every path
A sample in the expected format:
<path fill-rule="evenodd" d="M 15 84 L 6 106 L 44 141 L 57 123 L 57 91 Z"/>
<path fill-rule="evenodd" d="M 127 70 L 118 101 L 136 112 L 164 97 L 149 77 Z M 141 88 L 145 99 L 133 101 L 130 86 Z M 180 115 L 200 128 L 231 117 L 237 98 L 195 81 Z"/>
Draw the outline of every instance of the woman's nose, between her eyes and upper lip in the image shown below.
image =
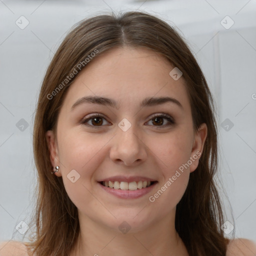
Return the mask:
<path fill-rule="evenodd" d="M 146 145 L 135 125 L 123 131 L 117 127 L 117 134 L 112 140 L 110 158 L 116 163 L 124 165 L 137 165 L 145 161 L 147 157 Z"/>

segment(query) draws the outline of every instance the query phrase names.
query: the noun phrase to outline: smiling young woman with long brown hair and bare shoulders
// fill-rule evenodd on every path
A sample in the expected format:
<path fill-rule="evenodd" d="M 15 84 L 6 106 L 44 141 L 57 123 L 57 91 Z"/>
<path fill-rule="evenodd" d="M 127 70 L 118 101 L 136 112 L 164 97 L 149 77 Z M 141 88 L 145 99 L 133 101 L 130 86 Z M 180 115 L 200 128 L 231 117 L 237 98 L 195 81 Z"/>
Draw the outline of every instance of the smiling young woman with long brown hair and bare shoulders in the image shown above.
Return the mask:
<path fill-rule="evenodd" d="M 126 12 L 79 22 L 47 69 L 33 135 L 35 237 L 3 255 L 256 252 L 220 228 L 211 93 L 164 21 Z"/>

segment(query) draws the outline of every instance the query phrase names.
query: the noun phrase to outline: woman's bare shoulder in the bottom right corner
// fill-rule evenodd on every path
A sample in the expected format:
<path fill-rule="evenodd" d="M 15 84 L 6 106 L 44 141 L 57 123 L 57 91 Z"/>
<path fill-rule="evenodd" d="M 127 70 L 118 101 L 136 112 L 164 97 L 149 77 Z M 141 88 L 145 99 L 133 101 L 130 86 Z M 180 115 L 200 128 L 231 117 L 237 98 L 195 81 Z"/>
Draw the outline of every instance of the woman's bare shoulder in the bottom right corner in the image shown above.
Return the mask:
<path fill-rule="evenodd" d="M 230 240 L 227 245 L 226 256 L 254 256 L 256 255 L 256 242 L 237 238 Z"/>

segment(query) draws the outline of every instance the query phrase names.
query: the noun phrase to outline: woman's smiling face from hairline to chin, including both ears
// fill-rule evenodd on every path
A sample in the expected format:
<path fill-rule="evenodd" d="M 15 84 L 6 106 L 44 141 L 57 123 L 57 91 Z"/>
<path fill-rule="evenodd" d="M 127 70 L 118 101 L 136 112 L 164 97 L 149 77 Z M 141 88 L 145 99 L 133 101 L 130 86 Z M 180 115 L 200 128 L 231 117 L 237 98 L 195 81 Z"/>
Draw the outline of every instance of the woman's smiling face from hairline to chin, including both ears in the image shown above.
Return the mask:
<path fill-rule="evenodd" d="M 172 69 L 149 49 L 114 48 L 70 85 L 46 137 L 80 218 L 137 231 L 175 215 L 206 125 L 193 130 L 185 82 Z"/>

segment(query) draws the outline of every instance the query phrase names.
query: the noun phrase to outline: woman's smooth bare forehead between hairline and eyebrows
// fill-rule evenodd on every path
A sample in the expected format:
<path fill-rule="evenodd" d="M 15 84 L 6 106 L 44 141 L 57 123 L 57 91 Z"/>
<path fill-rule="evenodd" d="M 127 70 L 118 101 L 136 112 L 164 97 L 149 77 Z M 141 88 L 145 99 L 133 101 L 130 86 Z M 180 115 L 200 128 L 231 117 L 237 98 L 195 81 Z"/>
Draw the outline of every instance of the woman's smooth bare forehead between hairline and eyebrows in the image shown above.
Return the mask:
<path fill-rule="evenodd" d="M 94 57 L 70 85 L 65 103 L 69 106 L 84 95 L 114 97 L 134 104 L 145 97 L 176 97 L 188 106 L 182 76 L 174 80 L 169 72 L 174 66 L 159 53 L 139 48 L 114 48 Z"/>

